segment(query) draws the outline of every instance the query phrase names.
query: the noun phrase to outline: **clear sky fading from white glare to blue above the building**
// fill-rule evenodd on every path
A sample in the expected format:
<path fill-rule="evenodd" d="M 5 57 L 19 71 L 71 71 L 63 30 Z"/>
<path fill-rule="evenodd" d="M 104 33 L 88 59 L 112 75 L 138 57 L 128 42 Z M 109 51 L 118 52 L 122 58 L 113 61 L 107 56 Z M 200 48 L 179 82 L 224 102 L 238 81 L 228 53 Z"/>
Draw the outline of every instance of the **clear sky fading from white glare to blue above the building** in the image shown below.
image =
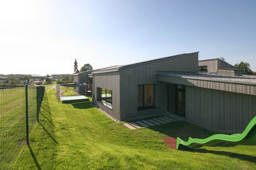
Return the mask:
<path fill-rule="evenodd" d="M 0 0 L 0 74 L 72 74 L 199 51 L 256 71 L 255 0 Z"/>

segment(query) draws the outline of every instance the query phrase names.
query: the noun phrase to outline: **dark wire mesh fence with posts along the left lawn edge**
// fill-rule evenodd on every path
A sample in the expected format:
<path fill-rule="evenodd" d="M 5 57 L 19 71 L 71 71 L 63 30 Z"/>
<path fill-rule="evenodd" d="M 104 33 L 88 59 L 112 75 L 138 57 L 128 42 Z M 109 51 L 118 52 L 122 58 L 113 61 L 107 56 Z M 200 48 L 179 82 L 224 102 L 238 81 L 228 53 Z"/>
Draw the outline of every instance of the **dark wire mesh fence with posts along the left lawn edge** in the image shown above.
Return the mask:
<path fill-rule="evenodd" d="M 1 169 L 10 169 L 39 120 L 43 86 L 0 85 Z"/>

